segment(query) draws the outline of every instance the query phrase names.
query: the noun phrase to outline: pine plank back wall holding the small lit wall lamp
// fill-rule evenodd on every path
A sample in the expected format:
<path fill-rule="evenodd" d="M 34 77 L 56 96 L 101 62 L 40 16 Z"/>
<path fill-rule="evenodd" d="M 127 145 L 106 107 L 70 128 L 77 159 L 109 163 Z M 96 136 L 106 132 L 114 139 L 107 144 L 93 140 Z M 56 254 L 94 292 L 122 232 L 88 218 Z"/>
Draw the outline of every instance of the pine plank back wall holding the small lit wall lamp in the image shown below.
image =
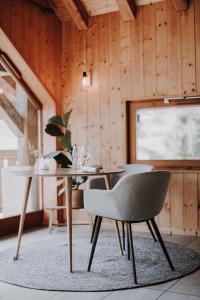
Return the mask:
<path fill-rule="evenodd" d="M 73 108 L 74 141 L 88 145 L 93 163 L 125 161 L 126 99 L 200 94 L 199 0 L 186 13 L 167 0 L 140 7 L 132 22 L 114 12 L 94 17 L 85 32 L 72 23 L 62 32 L 63 110 Z"/>

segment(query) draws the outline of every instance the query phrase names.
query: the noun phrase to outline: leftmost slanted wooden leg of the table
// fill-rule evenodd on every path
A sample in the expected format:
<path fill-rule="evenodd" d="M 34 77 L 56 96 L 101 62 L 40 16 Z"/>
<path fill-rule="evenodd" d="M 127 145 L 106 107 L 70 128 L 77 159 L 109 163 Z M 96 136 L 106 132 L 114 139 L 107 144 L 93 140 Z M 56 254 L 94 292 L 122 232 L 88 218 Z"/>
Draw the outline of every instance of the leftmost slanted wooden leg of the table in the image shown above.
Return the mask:
<path fill-rule="evenodd" d="M 25 221 L 25 215 L 26 215 L 26 208 L 27 208 L 27 204 L 28 204 L 29 192 L 30 192 L 30 188 L 31 188 L 31 182 L 32 182 L 32 177 L 28 177 L 26 179 L 24 202 L 23 202 L 22 212 L 21 212 L 21 217 L 20 217 L 20 224 L 19 224 L 19 231 L 18 231 L 18 238 L 17 238 L 17 250 L 16 250 L 16 255 L 14 256 L 15 260 L 17 260 L 19 257 L 19 249 L 20 249 L 22 232 L 23 232 L 23 228 L 24 228 L 24 221 Z"/>

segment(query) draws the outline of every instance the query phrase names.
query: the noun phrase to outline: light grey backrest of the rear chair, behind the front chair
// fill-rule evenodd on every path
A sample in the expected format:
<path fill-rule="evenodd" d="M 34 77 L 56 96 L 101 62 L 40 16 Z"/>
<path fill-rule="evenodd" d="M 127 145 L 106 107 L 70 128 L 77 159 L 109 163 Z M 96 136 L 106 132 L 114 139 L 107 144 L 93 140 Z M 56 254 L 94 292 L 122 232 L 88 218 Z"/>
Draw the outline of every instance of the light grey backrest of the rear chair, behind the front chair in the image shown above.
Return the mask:
<path fill-rule="evenodd" d="M 123 165 L 119 165 L 118 168 L 125 170 L 125 172 L 119 174 L 113 174 L 111 176 L 111 182 L 113 187 L 122 177 L 128 174 L 140 174 L 145 172 L 151 172 L 154 169 L 153 166 L 145 165 L 145 164 L 123 164 Z"/>

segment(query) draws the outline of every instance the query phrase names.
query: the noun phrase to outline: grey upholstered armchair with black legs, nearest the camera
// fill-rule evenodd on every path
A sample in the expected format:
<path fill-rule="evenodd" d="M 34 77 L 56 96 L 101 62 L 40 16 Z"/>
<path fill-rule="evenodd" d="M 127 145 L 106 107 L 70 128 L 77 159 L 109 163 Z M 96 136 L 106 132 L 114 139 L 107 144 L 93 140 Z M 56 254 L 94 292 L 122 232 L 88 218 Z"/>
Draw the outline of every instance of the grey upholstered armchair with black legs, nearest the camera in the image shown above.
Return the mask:
<path fill-rule="evenodd" d="M 171 174 L 168 171 L 155 171 L 122 177 L 110 191 L 87 190 L 84 192 L 84 207 L 89 214 L 97 216 L 94 239 L 90 254 L 90 271 L 99 235 L 102 218 L 126 222 L 133 267 L 134 281 L 137 283 L 131 223 L 148 220 L 154 228 L 160 245 L 172 270 L 173 264 L 154 217 L 162 210 Z"/>

